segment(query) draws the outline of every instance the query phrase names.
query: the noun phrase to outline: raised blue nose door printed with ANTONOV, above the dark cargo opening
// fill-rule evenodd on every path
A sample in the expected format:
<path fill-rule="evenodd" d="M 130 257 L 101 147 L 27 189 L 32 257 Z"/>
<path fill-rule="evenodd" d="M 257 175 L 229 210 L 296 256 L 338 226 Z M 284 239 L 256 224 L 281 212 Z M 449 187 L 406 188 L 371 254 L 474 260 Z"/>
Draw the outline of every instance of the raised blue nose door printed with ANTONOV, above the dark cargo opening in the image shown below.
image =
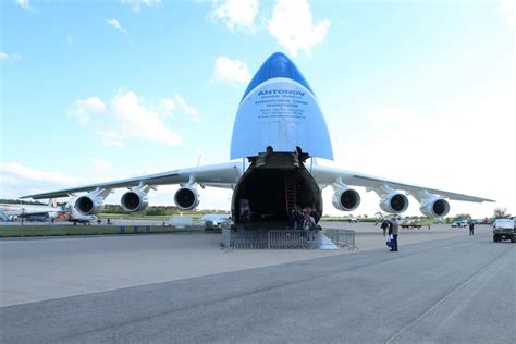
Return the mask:
<path fill-rule="evenodd" d="M 253 130 L 250 130 L 253 128 Z M 295 64 L 275 52 L 253 77 L 236 112 L 230 159 L 300 148 L 311 157 L 333 160 L 321 108 Z"/>

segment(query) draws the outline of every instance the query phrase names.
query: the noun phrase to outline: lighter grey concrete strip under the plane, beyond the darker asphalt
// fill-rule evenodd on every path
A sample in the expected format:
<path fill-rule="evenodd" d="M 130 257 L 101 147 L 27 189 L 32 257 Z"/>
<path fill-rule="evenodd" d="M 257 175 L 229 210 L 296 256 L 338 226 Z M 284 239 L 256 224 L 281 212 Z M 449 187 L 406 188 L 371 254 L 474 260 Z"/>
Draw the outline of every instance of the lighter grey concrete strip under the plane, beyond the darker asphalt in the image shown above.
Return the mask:
<path fill-rule="evenodd" d="M 220 234 L 204 233 L 3 239 L 0 307 L 386 247 L 372 223 L 321 225 L 354 230 L 357 249 L 229 250 Z M 450 225 L 401 230 L 400 245 L 465 233 Z"/>

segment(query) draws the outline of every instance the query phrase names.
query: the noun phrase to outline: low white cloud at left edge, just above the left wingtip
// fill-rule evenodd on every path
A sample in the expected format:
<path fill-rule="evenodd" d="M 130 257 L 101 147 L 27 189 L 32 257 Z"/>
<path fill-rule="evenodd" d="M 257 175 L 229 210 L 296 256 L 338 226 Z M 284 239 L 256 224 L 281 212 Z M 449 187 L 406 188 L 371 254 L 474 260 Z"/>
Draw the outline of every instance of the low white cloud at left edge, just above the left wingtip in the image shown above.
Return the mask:
<path fill-rule="evenodd" d="M 59 172 L 39 171 L 24 167 L 17 162 L 0 163 L 0 171 L 2 172 L 2 177 L 9 177 L 11 182 L 25 180 L 57 183 L 62 185 L 72 185 L 78 183 L 78 179 L 73 175 Z"/>

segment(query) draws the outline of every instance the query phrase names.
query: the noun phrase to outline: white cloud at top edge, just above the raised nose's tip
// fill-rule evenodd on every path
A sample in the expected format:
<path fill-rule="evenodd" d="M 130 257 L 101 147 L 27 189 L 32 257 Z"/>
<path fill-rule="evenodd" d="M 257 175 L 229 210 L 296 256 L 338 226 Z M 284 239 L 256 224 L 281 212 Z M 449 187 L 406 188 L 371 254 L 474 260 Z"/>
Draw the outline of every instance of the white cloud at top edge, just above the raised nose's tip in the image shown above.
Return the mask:
<path fill-rule="evenodd" d="M 327 19 L 314 22 L 307 0 L 279 0 L 268 23 L 269 33 L 292 56 L 298 50 L 310 53 L 315 45 L 324 40 L 329 27 Z"/>

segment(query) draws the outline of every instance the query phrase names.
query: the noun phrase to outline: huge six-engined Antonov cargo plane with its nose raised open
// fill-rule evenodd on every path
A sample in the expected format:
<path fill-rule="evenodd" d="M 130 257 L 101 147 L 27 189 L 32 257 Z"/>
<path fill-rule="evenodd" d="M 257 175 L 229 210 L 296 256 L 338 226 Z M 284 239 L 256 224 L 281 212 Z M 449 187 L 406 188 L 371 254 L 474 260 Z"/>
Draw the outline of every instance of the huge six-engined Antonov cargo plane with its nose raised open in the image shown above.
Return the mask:
<path fill-rule="evenodd" d="M 393 214 L 407 209 L 407 195 L 418 200 L 422 214 L 438 218 L 449 213 L 447 199 L 493 201 L 336 168 L 307 164 L 307 159 L 316 157 L 333 159 L 330 134 L 318 99 L 296 65 L 285 54 L 275 52 L 255 74 L 239 102 L 230 148 L 233 162 L 180 169 L 23 198 L 41 199 L 83 193 L 77 195 L 73 208 L 79 214 L 90 216 L 102 209 L 105 198 L 113 188 L 128 189 L 120 202 L 123 209 L 133 212 L 147 208 L 148 192 L 159 185 L 180 185 L 174 202 L 183 210 L 199 205 L 198 186 L 224 187 L 233 189 L 231 211 L 235 224 L 243 222 L 242 213 L 247 209 L 250 210 L 250 217 L 246 212 L 245 221 L 259 224 L 260 228 L 286 223 L 294 207 L 312 208 L 322 214 L 321 189 L 327 186 L 333 188 L 333 206 L 342 211 L 353 211 L 360 205 L 360 195 L 353 186 L 377 193 L 380 209 Z"/>

